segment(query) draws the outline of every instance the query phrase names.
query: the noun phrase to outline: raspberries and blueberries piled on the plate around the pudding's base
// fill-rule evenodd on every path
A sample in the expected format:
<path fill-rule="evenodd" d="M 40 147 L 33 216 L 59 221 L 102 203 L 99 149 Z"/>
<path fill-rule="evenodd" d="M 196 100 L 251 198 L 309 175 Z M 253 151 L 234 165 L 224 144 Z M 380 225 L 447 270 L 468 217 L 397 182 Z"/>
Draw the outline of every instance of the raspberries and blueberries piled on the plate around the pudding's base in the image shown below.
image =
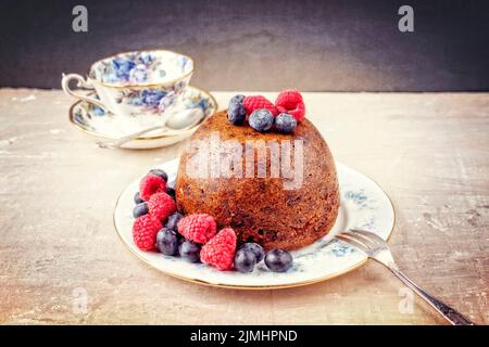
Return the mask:
<path fill-rule="evenodd" d="M 139 249 L 179 256 L 190 262 L 202 261 L 218 270 L 252 272 L 262 260 L 274 272 L 285 272 L 292 266 L 292 256 L 286 250 L 265 253 L 252 242 L 238 247 L 235 231 L 231 228 L 217 231 L 210 215 L 179 214 L 175 191 L 167 185 L 167 179 L 165 171 L 152 169 L 139 183 L 133 210 L 133 240 Z"/>

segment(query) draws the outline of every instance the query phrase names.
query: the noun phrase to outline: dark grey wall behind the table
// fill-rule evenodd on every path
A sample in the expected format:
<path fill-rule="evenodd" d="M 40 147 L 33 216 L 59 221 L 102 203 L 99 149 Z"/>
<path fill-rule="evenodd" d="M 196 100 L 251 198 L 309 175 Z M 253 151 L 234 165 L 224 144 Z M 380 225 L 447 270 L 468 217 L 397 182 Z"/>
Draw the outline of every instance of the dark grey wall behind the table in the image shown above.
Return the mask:
<path fill-rule="evenodd" d="M 88 33 L 72 9 L 88 8 Z M 415 33 L 398 30 L 410 4 Z M 489 90 L 489 1 L 22 1 L 0 4 L 0 87 L 59 88 L 114 52 L 195 57 L 214 90 Z"/>

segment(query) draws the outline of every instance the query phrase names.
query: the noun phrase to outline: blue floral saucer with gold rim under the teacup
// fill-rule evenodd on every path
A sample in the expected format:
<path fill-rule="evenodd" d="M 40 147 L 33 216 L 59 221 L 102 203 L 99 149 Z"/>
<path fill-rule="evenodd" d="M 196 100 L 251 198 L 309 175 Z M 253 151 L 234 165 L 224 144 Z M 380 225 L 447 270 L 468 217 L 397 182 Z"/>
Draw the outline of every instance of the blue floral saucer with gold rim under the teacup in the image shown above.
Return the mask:
<path fill-rule="evenodd" d="M 175 114 L 186 114 L 188 111 L 201 111 L 204 115 L 202 121 L 217 111 L 217 102 L 209 92 L 189 86 L 180 97 L 177 105 L 173 106 Z M 178 117 L 174 115 L 173 120 Z M 85 133 L 99 139 L 117 139 L 145 128 L 158 126 L 161 118 L 155 115 L 140 115 L 137 117 L 125 117 L 105 113 L 102 108 L 85 101 L 78 101 L 70 108 L 70 121 Z M 177 143 L 197 130 L 200 123 L 193 128 L 178 136 L 166 136 L 162 130 L 155 130 L 141 136 L 123 145 L 125 149 L 155 149 Z"/>

